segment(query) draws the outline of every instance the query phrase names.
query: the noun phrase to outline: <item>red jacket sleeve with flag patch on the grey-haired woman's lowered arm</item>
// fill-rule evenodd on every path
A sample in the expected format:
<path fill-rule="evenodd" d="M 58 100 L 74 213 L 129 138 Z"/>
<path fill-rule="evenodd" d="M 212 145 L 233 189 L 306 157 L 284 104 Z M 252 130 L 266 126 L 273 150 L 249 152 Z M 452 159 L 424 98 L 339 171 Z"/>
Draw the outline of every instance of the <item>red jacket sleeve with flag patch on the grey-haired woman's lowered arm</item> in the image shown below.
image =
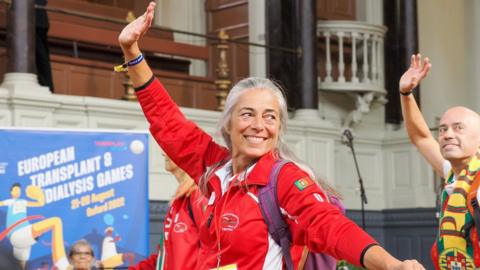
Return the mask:
<path fill-rule="evenodd" d="M 293 164 L 285 165 L 277 191 L 280 207 L 289 217 L 294 244 L 362 265 L 364 252 L 376 241 L 328 203 L 305 172 Z"/>

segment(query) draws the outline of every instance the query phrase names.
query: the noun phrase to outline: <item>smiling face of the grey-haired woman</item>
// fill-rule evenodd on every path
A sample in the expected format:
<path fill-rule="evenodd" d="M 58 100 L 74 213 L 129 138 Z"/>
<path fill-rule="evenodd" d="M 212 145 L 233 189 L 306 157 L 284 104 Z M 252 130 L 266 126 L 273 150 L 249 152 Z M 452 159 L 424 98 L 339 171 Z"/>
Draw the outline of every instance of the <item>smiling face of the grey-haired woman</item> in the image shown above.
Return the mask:
<path fill-rule="evenodd" d="M 227 129 L 233 160 L 251 163 L 273 150 L 280 131 L 280 105 L 269 89 L 245 90 L 235 105 Z"/>

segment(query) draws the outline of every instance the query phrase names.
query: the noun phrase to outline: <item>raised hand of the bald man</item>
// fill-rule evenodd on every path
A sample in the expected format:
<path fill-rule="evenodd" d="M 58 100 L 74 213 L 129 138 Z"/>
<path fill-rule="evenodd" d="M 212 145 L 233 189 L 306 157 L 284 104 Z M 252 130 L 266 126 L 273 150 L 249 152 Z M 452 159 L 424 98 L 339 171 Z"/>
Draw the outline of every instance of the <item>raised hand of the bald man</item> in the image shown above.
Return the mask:
<path fill-rule="evenodd" d="M 432 64 L 430 64 L 428 58 L 425 58 L 422 63 L 420 54 L 412 55 L 410 68 L 400 78 L 400 92 L 405 94 L 411 92 L 427 76 L 431 67 Z"/>

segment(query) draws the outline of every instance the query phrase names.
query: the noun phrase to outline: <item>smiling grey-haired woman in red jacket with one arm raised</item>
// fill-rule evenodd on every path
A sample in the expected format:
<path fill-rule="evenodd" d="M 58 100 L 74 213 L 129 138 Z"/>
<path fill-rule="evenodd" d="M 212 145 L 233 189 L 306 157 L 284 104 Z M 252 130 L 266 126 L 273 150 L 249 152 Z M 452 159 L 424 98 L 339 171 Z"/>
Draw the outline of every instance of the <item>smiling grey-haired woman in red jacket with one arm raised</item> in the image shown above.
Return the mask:
<path fill-rule="evenodd" d="M 257 198 L 278 159 L 291 161 L 278 175 L 277 196 L 292 244 L 369 269 L 424 269 L 414 260 L 392 257 L 326 201 L 308 166 L 288 151 L 286 102 L 270 80 L 247 78 L 230 90 L 219 121 L 226 147 L 188 121 L 138 47 L 154 8 L 151 2 L 144 15 L 126 26 L 119 43 L 152 135 L 208 198 L 197 269 L 283 268 L 280 247 L 267 231 Z"/>

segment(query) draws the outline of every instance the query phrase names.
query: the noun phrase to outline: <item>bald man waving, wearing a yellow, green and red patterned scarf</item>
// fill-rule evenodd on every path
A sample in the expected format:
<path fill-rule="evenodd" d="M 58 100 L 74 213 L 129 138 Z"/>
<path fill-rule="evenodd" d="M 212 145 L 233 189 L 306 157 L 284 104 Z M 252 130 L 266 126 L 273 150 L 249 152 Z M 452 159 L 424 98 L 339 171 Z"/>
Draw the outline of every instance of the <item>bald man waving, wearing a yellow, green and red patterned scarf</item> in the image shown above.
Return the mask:
<path fill-rule="evenodd" d="M 445 179 L 436 240 L 431 250 L 436 269 L 480 267 L 480 116 L 465 107 L 452 107 L 440 119 L 438 141 L 418 108 L 413 90 L 427 76 L 428 58 L 412 55 L 399 82 L 405 128 L 435 172 Z"/>

